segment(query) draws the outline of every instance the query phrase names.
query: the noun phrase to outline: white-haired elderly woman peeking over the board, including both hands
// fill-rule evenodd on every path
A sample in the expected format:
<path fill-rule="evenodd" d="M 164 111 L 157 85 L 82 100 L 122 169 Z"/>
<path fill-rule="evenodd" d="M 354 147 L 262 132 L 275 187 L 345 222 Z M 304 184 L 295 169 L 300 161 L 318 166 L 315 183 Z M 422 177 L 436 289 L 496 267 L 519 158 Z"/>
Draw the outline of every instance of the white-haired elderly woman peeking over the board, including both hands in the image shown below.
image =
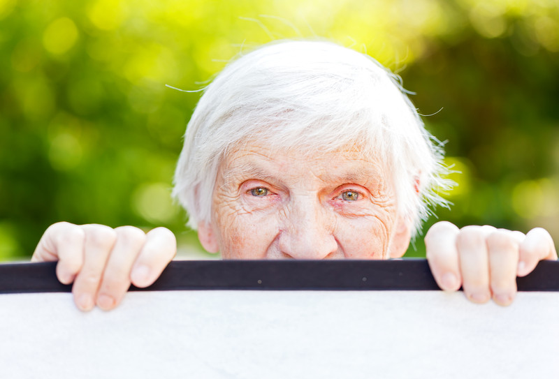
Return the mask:
<path fill-rule="evenodd" d="M 438 195 L 442 148 L 394 75 L 319 41 L 272 43 L 229 64 L 187 127 L 174 195 L 224 259 L 401 257 Z M 507 305 L 516 276 L 557 259 L 545 230 L 437 223 L 426 236 L 437 283 Z M 32 260 L 59 260 L 84 311 L 112 309 L 173 258 L 165 228 L 52 225 Z"/>

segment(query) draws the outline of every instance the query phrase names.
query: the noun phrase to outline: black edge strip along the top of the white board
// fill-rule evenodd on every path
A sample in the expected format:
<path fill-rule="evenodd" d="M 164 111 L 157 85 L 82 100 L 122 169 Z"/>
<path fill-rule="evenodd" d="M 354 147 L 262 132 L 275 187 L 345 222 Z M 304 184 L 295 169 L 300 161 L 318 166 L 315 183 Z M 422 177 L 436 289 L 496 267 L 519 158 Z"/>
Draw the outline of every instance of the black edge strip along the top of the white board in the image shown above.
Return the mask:
<path fill-rule="evenodd" d="M 0 293 L 70 292 L 55 262 L 0 265 Z M 559 291 L 559 261 L 517 278 L 520 291 Z M 438 290 L 426 260 L 175 260 L 148 288 L 170 290 Z"/>

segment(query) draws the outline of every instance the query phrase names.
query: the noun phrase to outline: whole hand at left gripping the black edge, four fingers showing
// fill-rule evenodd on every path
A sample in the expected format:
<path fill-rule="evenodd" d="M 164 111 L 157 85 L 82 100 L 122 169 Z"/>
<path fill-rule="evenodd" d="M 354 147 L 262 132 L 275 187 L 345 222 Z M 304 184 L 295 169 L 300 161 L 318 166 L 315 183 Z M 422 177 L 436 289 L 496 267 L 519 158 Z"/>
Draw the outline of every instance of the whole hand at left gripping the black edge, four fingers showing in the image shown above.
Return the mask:
<path fill-rule="evenodd" d="M 74 302 L 82 311 L 95 305 L 115 308 L 130 284 L 144 288 L 163 272 L 177 252 L 173 232 L 133 226 L 55 223 L 45 231 L 31 262 L 58 261 L 57 278 L 73 283 Z"/>

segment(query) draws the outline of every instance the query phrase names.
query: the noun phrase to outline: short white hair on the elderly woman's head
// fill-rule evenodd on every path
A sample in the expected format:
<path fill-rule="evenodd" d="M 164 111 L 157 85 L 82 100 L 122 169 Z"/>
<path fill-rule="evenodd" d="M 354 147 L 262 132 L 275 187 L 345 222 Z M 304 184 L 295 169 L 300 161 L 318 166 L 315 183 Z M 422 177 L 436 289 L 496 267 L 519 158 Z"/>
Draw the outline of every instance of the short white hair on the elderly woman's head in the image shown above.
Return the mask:
<path fill-rule="evenodd" d="M 175 171 L 173 196 L 188 225 L 211 221 L 226 154 L 259 141 L 310 155 L 358 147 L 380 159 L 415 235 L 430 206 L 448 205 L 438 191 L 450 184 L 442 145 L 398 80 L 371 57 L 326 41 L 276 41 L 228 64 L 196 106 Z"/>

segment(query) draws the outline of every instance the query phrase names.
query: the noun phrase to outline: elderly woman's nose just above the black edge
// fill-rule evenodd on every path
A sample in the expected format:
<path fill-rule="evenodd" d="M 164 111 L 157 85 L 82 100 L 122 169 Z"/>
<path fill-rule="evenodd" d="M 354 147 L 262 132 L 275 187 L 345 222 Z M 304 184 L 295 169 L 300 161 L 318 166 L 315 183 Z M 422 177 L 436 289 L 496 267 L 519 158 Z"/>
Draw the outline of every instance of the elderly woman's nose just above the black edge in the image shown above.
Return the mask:
<path fill-rule="evenodd" d="M 294 259 L 336 258 L 334 220 L 319 202 L 305 200 L 286 210 L 284 228 L 279 234 L 280 251 Z"/>

